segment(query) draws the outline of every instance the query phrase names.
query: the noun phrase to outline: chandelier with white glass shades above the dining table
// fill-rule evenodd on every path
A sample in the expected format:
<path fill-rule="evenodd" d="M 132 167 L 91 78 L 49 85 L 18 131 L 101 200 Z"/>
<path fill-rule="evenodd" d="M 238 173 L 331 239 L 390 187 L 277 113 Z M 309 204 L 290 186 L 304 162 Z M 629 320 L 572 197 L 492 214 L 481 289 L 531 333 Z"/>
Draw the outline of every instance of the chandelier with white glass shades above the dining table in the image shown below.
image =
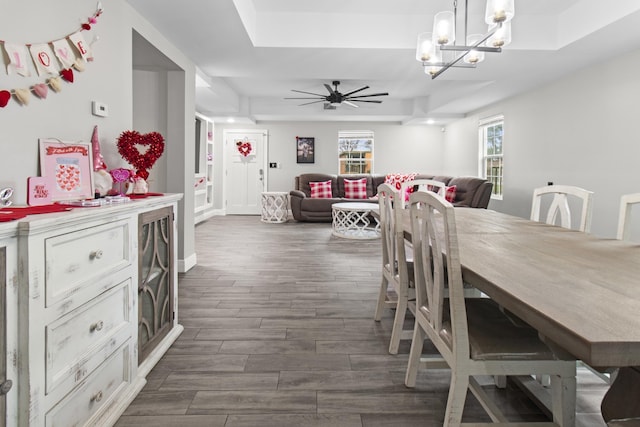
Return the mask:
<path fill-rule="evenodd" d="M 416 59 L 422 62 L 424 72 L 435 79 L 449 68 L 475 68 L 484 61 L 485 52 L 502 52 L 511 43 L 511 19 L 514 0 L 487 0 L 485 34 L 467 34 L 468 3 L 464 2 L 464 42 L 456 43 L 458 1 L 453 1 L 453 12 L 439 12 L 433 19 L 433 31 L 418 35 Z"/>

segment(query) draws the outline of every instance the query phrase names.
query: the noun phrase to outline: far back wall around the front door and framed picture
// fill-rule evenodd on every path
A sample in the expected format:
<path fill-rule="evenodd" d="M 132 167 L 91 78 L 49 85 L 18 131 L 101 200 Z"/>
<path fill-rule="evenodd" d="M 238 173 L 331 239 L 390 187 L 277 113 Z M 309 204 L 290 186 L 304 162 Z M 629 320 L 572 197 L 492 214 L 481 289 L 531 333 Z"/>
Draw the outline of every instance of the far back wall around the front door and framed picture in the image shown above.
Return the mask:
<path fill-rule="evenodd" d="M 307 172 L 338 173 L 338 131 L 374 132 L 374 172 L 424 172 L 440 174 L 443 169 L 443 133 L 434 126 L 401 126 L 384 123 L 345 122 L 265 122 L 249 125 L 216 123 L 216 158 L 221 159 L 225 129 L 265 129 L 269 132 L 269 162 L 281 165 L 268 169 L 268 190 L 293 189 L 294 177 Z M 315 163 L 296 163 L 296 136 L 315 138 Z M 216 181 L 223 176 L 222 163 L 216 163 Z M 221 188 L 216 188 L 218 196 Z M 216 207 L 222 206 L 220 197 Z"/>

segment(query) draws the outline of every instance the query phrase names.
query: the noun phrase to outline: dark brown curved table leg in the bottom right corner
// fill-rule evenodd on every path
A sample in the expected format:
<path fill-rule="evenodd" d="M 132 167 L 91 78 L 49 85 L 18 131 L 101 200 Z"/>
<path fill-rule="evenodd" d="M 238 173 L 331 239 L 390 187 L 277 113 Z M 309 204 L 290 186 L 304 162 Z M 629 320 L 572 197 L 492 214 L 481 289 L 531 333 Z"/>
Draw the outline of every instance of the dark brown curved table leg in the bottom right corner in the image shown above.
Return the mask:
<path fill-rule="evenodd" d="M 620 368 L 600 410 L 609 427 L 640 427 L 640 366 Z"/>

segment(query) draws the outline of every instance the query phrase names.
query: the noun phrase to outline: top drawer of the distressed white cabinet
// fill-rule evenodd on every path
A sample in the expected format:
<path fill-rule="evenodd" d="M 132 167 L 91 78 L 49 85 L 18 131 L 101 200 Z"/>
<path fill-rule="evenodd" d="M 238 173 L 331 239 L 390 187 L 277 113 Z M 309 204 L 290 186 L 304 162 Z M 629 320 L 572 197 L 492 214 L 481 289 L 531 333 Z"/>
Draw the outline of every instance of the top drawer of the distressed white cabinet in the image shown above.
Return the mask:
<path fill-rule="evenodd" d="M 119 221 L 46 239 L 46 306 L 130 265 L 130 232 Z"/>

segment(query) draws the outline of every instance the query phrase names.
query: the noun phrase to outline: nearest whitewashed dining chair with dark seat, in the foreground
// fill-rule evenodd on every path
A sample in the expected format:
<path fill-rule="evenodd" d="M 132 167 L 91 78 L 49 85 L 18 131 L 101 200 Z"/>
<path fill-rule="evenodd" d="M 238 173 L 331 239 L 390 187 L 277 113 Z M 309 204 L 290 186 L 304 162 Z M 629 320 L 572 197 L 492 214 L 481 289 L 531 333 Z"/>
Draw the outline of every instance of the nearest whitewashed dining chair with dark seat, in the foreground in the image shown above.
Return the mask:
<path fill-rule="evenodd" d="M 544 424 L 573 426 L 575 359 L 552 350 L 535 329 L 493 300 L 465 299 L 453 205 L 430 192 L 413 193 L 409 201 L 416 320 L 405 385 L 414 387 L 418 369 L 423 362 L 428 366 L 422 351 L 429 338 L 451 369 L 444 426 L 461 425 L 468 390 L 493 422 L 508 424 L 476 377 L 535 374 L 551 375 L 553 422 Z"/>

